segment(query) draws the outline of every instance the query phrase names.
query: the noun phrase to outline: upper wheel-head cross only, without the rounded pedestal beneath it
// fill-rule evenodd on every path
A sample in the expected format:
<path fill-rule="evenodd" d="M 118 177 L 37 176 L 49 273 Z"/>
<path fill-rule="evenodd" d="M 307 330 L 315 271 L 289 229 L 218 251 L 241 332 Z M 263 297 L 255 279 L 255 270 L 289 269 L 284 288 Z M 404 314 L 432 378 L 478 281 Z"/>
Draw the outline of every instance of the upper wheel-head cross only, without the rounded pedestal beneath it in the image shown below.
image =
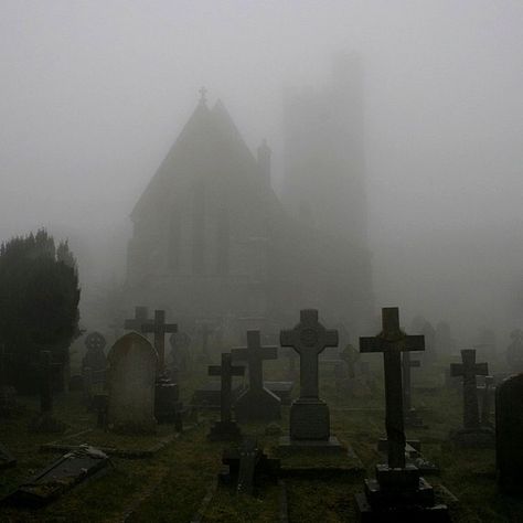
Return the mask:
<path fill-rule="evenodd" d="M 338 346 L 338 331 L 327 330 L 318 321 L 318 310 L 306 309 L 292 330 L 280 332 L 279 342 L 300 355 L 300 397 L 318 399 L 318 356 L 327 346 Z"/>

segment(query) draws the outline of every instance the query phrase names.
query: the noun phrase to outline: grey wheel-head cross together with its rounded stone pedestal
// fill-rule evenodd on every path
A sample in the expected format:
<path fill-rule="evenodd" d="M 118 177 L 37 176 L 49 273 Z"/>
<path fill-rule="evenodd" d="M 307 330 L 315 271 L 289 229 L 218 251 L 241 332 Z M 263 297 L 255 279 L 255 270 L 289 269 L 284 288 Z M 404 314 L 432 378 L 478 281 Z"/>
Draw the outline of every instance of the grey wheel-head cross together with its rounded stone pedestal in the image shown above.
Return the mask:
<path fill-rule="evenodd" d="M 338 346 L 338 332 L 318 321 L 317 310 L 302 310 L 300 322 L 280 332 L 280 344 L 300 356 L 300 397 L 290 406 L 290 436 L 280 438 L 280 447 L 340 450 L 338 438 L 330 433 L 329 407 L 319 397 L 318 383 L 318 357 L 327 346 Z"/>

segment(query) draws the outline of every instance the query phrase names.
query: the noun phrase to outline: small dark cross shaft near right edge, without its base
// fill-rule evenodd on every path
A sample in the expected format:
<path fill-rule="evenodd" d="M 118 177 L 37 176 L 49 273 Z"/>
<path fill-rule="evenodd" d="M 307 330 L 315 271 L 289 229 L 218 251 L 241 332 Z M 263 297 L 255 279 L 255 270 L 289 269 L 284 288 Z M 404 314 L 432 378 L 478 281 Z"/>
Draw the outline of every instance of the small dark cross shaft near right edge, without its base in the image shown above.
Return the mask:
<path fill-rule="evenodd" d="M 461 361 L 450 364 L 450 375 L 463 377 L 463 427 L 476 429 L 480 426 L 476 376 L 487 376 L 489 366 L 487 363 L 476 363 L 474 349 L 462 350 Z"/>

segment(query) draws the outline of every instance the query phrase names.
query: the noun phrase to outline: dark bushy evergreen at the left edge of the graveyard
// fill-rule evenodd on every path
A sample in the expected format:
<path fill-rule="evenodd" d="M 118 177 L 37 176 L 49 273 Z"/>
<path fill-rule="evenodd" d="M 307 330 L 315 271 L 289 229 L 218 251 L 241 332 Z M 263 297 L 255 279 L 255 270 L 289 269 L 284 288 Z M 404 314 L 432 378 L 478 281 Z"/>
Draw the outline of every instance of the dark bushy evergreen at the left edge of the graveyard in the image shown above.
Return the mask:
<path fill-rule="evenodd" d="M 68 364 L 78 335 L 78 274 L 67 242 L 55 245 L 45 230 L 0 246 L 0 343 L 4 366 L 19 392 L 38 388 L 39 352 Z"/>

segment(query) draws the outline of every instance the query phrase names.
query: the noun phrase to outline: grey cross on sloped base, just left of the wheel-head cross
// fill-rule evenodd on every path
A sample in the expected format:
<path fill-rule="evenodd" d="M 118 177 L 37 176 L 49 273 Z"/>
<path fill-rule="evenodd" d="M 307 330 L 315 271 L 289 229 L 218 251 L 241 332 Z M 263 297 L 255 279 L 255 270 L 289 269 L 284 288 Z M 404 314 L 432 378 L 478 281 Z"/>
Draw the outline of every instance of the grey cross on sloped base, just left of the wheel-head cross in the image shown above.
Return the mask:
<path fill-rule="evenodd" d="M 264 387 L 264 360 L 278 357 L 277 346 L 262 346 L 259 331 L 247 331 L 247 346 L 233 349 L 234 362 L 247 362 L 248 387 L 234 405 L 238 421 L 270 421 L 281 417 L 281 401 Z"/>

